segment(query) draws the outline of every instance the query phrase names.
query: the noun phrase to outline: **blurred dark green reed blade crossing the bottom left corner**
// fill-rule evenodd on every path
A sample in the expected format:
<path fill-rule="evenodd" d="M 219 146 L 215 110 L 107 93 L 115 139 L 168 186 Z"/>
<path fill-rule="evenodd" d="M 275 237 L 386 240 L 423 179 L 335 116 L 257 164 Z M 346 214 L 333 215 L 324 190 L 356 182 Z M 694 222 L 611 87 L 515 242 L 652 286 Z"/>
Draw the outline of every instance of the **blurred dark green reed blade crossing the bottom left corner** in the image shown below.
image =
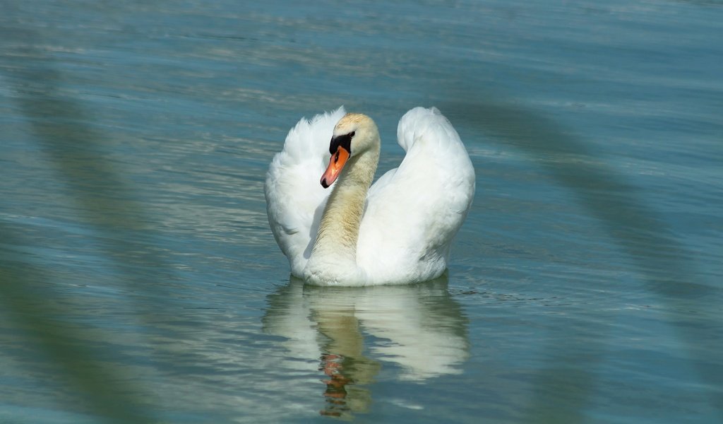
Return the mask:
<path fill-rule="evenodd" d="M 5 225 L 0 226 L 0 234 L 8 245 L 20 240 Z M 97 336 L 91 338 L 82 328 L 67 323 L 69 310 L 59 308 L 49 297 L 51 281 L 50 274 L 33 264 L 1 260 L 1 304 L 14 331 L 20 331 L 24 344 L 48 357 L 48 367 L 53 368 L 48 372 L 62 376 L 62 385 L 81 395 L 78 406 L 82 410 L 111 423 L 156 422 L 142 407 L 150 399 L 147 392 L 126 383 L 123 370 L 101 359 L 108 352 L 90 347 L 89 340 L 98 342 Z"/>

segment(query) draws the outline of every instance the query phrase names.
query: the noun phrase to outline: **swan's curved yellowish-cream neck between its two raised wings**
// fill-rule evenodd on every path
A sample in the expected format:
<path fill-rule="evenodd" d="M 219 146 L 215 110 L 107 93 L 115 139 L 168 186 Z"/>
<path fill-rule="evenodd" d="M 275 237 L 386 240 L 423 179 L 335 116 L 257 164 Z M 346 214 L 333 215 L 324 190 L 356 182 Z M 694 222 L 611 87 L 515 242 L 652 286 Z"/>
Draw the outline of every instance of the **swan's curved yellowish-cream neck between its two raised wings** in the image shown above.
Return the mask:
<path fill-rule="evenodd" d="M 324 208 L 307 271 L 312 279 L 341 281 L 359 278 L 356 242 L 364 202 L 379 162 L 379 148 L 349 159 Z"/>

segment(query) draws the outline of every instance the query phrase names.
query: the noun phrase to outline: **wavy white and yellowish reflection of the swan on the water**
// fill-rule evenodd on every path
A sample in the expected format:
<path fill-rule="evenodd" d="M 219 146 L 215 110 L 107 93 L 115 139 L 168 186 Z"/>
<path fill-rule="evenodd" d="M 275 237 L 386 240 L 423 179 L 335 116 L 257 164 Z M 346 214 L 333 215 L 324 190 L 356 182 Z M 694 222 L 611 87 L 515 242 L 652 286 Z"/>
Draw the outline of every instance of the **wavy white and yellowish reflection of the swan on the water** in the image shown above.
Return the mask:
<path fill-rule="evenodd" d="M 268 297 L 264 331 L 283 336 L 290 368 L 323 373 L 322 415 L 367 412 L 369 383 L 385 364 L 422 382 L 461 373 L 467 320 L 447 277 L 411 286 L 311 287 L 294 277 Z"/>

